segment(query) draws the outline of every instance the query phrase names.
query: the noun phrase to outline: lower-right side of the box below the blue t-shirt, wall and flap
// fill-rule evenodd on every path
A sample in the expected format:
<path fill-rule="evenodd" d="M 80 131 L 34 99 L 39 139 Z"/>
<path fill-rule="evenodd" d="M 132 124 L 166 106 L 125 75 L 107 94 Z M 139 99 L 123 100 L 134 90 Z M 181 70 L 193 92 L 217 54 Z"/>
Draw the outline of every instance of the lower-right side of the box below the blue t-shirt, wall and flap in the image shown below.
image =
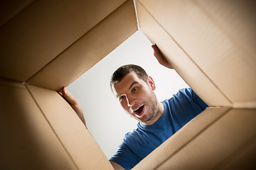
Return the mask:
<path fill-rule="evenodd" d="M 231 166 L 235 163 L 234 160 L 242 163 L 247 162 L 247 157 L 255 157 L 255 152 L 248 152 L 247 148 L 255 150 L 256 110 L 232 109 L 221 113 L 221 109 L 223 108 L 212 108 L 201 113 L 201 118 L 191 120 L 134 169 L 220 169 Z M 222 116 L 218 119 L 210 118 L 210 123 L 205 122 L 209 115 L 218 112 Z M 190 129 L 201 123 L 206 123 L 206 127 L 200 131 Z M 191 135 L 193 130 L 195 131 Z M 192 136 L 189 142 L 180 142 L 189 138 L 189 135 Z M 178 150 L 174 149 L 177 146 Z M 247 167 L 255 165 L 255 161 L 249 162 Z"/>

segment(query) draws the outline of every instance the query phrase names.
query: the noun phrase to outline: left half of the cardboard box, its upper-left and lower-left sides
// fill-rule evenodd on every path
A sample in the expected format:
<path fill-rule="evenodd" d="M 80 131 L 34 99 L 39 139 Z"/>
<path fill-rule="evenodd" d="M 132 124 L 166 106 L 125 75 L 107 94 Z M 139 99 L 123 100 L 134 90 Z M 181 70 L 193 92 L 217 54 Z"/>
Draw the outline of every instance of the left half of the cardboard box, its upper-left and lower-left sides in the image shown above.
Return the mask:
<path fill-rule="evenodd" d="M 0 10 L 1 169 L 112 169 L 56 91 L 137 30 L 133 1 L 21 6 Z"/>

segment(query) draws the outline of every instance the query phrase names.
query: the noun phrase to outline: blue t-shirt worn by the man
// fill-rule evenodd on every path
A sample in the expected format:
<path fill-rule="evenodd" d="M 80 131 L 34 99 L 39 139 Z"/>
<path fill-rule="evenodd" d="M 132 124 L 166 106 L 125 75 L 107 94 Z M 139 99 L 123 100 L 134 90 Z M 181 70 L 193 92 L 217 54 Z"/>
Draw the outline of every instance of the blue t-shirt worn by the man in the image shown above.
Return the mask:
<path fill-rule="evenodd" d="M 164 113 L 159 120 L 153 125 L 143 125 L 139 122 L 136 130 L 124 136 L 122 144 L 110 161 L 116 162 L 124 169 L 132 169 L 207 107 L 190 88 L 181 89 L 162 103 Z"/>

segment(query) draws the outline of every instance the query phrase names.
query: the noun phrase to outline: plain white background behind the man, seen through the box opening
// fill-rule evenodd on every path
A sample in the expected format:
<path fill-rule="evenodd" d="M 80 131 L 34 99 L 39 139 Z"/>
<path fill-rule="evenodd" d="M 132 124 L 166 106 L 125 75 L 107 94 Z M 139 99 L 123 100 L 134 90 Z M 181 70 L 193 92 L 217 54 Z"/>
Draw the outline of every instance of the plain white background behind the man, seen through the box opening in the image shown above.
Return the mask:
<path fill-rule="evenodd" d="M 159 101 L 171 98 L 188 85 L 172 69 L 161 66 L 153 55 L 151 42 L 138 30 L 103 60 L 68 86 L 82 105 L 87 127 L 109 159 L 128 131 L 137 128 L 110 89 L 110 77 L 123 64 L 138 64 L 154 79 Z"/>

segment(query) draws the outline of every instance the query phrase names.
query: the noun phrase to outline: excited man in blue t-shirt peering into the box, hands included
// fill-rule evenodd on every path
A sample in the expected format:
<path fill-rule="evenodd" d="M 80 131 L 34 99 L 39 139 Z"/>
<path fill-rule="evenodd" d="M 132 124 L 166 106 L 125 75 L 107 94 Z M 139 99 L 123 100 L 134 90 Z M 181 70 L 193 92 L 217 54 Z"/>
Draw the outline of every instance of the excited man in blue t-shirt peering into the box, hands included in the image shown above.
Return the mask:
<path fill-rule="evenodd" d="M 159 63 L 172 69 L 156 45 L 152 47 Z M 139 120 L 138 128 L 124 136 L 119 149 L 110 158 L 114 169 L 132 169 L 207 107 L 191 89 L 181 89 L 173 98 L 159 102 L 154 94 L 154 80 L 134 64 L 119 67 L 112 74 L 110 85 L 122 108 Z M 63 96 L 85 123 L 79 102 L 65 89 Z"/>

